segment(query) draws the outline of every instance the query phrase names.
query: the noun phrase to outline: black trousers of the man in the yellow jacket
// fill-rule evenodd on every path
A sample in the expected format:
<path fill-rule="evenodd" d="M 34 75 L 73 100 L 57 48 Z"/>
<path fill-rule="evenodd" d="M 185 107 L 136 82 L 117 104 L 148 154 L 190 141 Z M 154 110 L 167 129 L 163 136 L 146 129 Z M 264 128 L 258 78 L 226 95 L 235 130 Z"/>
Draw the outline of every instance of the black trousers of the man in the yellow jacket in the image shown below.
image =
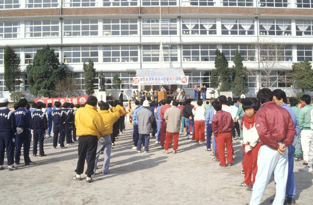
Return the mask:
<path fill-rule="evenodd" d="M 91 175 L 94 174 L 97 147 L 97 136 L 85 135 L 78 138 L 78 161 L 75 169 L 76 174 L 82 174 L 84 172 L 86 155 L 87 169 L 85 174 L 87 177 L 91 177 Z"/>

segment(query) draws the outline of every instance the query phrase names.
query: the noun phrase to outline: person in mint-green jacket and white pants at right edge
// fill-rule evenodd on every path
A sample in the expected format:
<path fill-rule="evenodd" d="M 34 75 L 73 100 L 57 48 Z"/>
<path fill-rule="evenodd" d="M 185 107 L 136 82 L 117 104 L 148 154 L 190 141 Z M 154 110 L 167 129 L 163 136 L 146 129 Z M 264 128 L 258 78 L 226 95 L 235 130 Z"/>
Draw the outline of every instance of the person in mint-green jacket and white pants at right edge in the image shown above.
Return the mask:
<path fill-rule="evenodd" d="M 300 110 L 299 113 L 299 128 L 301 130 L 301 148 L 303 151 L 303 160 L 305 161 L 303 165 L 308 165 L 309 161 L 309 148 L 310 141 L 313 135 L 313 131 L 310 128 L 311 125 L 311 110 L 313 106 L 311 105 L 311 97 L 309 95 L 303 95 L 301 99 L 305 102 L 305 106 Z"/>

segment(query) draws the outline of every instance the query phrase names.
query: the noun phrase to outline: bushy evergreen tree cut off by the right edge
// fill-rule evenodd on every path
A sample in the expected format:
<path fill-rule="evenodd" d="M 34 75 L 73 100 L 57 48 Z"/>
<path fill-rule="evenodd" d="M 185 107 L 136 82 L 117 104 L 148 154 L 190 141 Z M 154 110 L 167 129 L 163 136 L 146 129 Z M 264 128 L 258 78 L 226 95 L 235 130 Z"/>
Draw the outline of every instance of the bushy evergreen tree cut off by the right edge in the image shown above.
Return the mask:
<path fill-rule="evenodd" d="M 294 81 L 296 88 L 305 91 L 313 91 L 313 70 L 312 65 L 308 60 L 292 64 L 291 78 Z"/>

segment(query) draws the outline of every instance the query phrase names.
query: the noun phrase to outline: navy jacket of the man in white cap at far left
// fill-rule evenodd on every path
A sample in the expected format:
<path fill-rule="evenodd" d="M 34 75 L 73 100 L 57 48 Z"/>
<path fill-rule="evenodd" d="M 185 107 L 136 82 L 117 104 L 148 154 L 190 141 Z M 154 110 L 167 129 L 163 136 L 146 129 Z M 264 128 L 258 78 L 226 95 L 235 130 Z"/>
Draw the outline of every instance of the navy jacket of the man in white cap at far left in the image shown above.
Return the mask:
<path fill-rule="evenodd" d="M 0 132 L 16 133 L 14 113 L 9 108 L 0 108 Z"/>

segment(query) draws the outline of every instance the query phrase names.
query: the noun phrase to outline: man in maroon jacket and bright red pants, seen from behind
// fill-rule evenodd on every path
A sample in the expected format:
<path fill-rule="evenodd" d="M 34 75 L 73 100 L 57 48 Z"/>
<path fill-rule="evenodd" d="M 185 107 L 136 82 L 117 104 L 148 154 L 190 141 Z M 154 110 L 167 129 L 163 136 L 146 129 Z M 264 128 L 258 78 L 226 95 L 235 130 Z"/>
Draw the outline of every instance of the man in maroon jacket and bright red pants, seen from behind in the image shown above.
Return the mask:
<path fill-rule="evenodd" d="M 230 113 L 222 111 L 222 103 L 215 100 L 213 103 L 213 108 L 216 114 L 212 119 L 212 132 L 216 139 L 216 144 L 218 147 L 218 157 L 219 166 L 226 167 L 225 159 L 225 144 L 227 150 L 227 162 L 229 166 L 233 165 L 233 138 L 232 129 L 235 126 L 233 118 Z"/>

